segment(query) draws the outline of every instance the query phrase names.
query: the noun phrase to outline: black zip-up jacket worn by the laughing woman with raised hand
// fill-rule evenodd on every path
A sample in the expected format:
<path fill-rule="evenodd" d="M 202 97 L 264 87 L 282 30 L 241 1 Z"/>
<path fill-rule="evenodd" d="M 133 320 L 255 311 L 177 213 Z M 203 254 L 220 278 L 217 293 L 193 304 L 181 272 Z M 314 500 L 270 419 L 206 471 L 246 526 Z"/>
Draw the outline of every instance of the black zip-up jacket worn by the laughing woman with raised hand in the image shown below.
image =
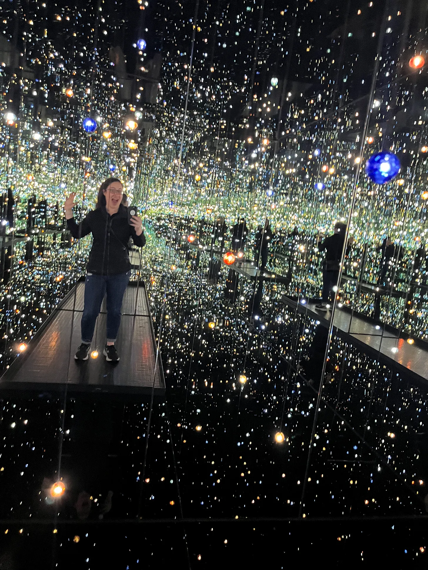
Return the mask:
<path fill-rule="evenodd" d="M 74 218 L 67 219 L 72 237 L 83 238 L 92 233 L 94 238 L 86 271 L 95 275 L 118 275 L 131 269 L 128 241 L 134 245 L 146 245 L 144 232 L 136 235 L 134 226 L 128 223 L 128 211 L 120 204 L 116 214 L 108 215 L 105 207 L 91 210 L 79 224 Z"/>

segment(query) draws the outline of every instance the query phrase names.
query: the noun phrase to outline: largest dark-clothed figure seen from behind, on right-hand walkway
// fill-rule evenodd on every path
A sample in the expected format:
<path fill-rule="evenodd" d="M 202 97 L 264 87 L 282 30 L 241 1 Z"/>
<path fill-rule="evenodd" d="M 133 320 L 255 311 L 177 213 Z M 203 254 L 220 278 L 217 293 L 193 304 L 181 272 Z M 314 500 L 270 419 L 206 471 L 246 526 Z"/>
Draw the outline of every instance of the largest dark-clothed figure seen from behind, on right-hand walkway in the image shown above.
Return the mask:
<path fill-rule="evenodd" d="M 340 262 L 342 259 L 342 252 L 344 249 L 346 234 L 346 224 L 337 222 L 334 226 L 334 234 L 325 238 L 324 242 L 320 243 L 321 236 L 318 238 L 318 250 L 325 251 L 325 259 L 322 262 L 322 298 L 321 303 L 316 305 L 317 309 L 321 311 L 328 310 L 328 303 L 332 297 L 334 288 L 338 287 Z M 346 253 L 348 254 L 349 248 L 352 245 L 353 238 L 348 240 L 348 247 Z"/>

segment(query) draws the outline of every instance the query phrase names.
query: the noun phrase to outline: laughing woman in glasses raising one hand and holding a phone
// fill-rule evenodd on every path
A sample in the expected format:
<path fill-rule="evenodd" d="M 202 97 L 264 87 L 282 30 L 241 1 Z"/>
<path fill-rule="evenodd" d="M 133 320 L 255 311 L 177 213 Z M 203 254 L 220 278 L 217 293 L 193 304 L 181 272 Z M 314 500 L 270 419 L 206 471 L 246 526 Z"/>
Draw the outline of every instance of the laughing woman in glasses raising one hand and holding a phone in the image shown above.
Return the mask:
<path fill-rule="evenodd" d="M 75 194 L 67 198 L 67 227 L 74 238 L 80 239 L 92 233 L 94 238 L 86 267 L 84 283 L 84 308 L 82 315 L 82 344 L 75 354 L 76 360 L 87 360 L 104 294 L 107 292 L 107 342 L 104 356 L 108 362 L 119 360 L 115 340 L 120 326 L 122 299 L 131 275 L 127 244 L 129 238 L 138 247 L 146 245 L 143 221 L 138 215 L 128 223 L 128 211 L 121 203 L 123 185 L 118 178 L 107 178 L 100 186 L 94 211 L 76 223 L 72 208 Z"/>

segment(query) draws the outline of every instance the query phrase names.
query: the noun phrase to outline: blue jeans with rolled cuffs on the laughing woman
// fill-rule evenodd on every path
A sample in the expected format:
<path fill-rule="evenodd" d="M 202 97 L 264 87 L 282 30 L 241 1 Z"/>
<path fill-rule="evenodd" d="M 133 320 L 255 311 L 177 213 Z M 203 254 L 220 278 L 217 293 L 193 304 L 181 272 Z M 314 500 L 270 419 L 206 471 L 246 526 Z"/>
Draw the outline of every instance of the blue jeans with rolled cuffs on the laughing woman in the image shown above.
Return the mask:
<path fill-rule="evenodd" d="M 90 344 L 96 317 L 101 310 L 107 292 L 107 342 L 116 340 L 120 327 L 120 316 L 124 292 L 130 280 L 131 271 L 118 275 L 94 275 L 88 273 L 84 282 L 84 307 L 82 322 L 82 343 Z"/>

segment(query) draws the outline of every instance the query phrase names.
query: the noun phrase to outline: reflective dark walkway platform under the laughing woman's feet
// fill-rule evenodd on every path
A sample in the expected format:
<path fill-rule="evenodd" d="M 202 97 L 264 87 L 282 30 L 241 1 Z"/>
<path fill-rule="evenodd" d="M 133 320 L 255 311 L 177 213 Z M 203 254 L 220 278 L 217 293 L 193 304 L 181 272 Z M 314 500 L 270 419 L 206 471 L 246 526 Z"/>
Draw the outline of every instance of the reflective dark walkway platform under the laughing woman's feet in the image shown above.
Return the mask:
<path fill-rule="evenodd" d="M 0 378 L 0 390 L 163 396 L 165 381 L 156 344 L 146 287 L 130 284 L 122 304 L 116 347 L 120 361 L 112 364 L 103 356 L 106 343 L 106 299 L 95 327 L 90 357 L 76 361 L 80 344 L 80 318 L 83 311 L 84 283 L 77 286 L 50 315 Z M 95 356 L 94 351 L 98 351 Z M 156 365 L 156 372 L 155 372 Z"/>

